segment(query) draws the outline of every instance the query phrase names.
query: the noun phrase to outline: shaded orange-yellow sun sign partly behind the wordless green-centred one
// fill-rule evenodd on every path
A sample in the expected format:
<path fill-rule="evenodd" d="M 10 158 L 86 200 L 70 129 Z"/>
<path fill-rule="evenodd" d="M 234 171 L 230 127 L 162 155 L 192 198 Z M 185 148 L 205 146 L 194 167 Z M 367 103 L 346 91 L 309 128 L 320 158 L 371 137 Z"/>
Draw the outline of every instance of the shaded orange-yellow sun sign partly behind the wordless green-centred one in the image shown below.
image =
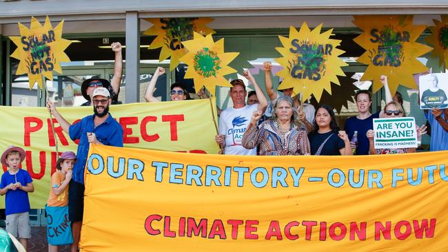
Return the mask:
<path fill-rule="evenodd" d="M 156 36 L 148 49 L 162 48 L 159 61 L 171 56 L 170 71 L 179 65 L 181 57 L 187 53 L 182 42 L 193 39 L 193 32 L 202 35 L 214 34 L 214 30 L 207 28 L 210 18 L 162 18 L 145 19 L 153 25 L 143 34 Z"/>

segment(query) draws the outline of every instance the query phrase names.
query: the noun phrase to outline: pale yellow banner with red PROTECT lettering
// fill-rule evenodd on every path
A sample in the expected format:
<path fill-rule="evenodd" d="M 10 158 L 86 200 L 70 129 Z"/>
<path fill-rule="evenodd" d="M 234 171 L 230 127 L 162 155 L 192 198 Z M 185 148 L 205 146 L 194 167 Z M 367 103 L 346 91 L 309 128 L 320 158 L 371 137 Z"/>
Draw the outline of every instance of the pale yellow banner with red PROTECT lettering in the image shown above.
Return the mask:
<path fill-rule="evenodd" d="M 213 103 L 214 104 L 214 103 Z M 93 107 L 57 107 L 61 115 L 74 123 L 93 114 Z M 163 103 L 131 103 L 112 105 L 110 114 L 123 127 L 125 147 L 159 149 L 193 153 L 218 153 L 214 141 L 212 106 L 210 100 Z M 22 163 L 34 180 L 30 193 L 32 208 L 43 208 L 50 190 L 50 177 L 55 171 L 56 150 L 45 107 L 0 107 L 0 150 L 17 145 L 26 151 Z M 215 116 L 215 118 L 217 118 Z M 77 151 L 68 134 L 55 122 L 59 152 Z M 3 167 L 6 171 L 6 167 Z M 0 200 L 0 207 L 5 207 Z"/>

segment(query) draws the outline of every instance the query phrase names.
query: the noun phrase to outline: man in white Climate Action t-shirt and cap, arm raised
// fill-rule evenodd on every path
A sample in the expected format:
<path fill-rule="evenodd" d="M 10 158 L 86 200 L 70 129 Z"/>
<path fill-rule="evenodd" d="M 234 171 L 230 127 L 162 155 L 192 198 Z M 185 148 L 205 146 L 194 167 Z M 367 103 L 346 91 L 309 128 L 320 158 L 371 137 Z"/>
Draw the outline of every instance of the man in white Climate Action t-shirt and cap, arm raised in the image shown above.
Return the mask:
<path fill-rule="evenodd" d="M 243 81 L 236 79 L 230 82 L 233 87 L 230 87 L 229 96 L 232 98 L 234 105 L 233 107 L 227 107 L 227 109 L 221 112 L 219 117 L 219 135 L 215 137 L 216 143 L 224 146 L 224 154 L 256 155 L 256 148 L 245 149 L 241 145 L 241 139 L 250 123 L 252 114 L 257 110 L 265 112 L 267 99 L 249 71 L 244 71 L 243 76 L 254 84 L 258 103 L 246 105 L 245 98 L 247 92 Z"/>

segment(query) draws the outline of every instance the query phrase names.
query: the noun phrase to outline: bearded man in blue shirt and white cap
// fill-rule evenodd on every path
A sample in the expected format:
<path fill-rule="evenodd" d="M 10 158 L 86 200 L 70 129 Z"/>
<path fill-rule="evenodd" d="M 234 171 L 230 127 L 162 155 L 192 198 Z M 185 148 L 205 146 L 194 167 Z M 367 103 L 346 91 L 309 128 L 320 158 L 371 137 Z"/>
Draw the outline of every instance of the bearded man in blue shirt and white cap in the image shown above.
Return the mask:
<path fill-rule="evenodd" d="M 123 147 L 123 128 L 109 114 L 112 103 L 110 93 L 105 87 L 98 87 L 92 92 L 94 114 L 85 116 L 78 123 L 70 125 L 50 101 L 48 110 L 67 132 L 72 140 L 79 139 L 77 162 L 73 166 L 73 177 L 68 188 L 68 213 L 72 222 L 72 251 L 77 251 L 81 235 L 84 207 L 84 167 L 87 162 L 89 145 L 110 145 Z"/>

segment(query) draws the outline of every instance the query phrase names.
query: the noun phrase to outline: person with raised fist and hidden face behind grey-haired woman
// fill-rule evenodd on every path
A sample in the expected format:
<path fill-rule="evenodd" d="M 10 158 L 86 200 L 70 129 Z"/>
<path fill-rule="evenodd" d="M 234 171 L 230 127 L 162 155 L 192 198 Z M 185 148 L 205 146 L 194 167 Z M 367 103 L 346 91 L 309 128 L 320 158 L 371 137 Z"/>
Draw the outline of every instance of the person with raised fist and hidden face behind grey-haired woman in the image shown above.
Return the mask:
<path fill-rule="evenodd" d="M 266 61 L 265 63 L 263 63 L 263 67 L 265 70 L 265 87 L 266 87 L 266 92 L 267 95 L 269 96 L 269 98 L 271 99 L 271 103 L 272 105 L 275 105 L 277 98 L 278 98 L 278 93 L 274 90 L 274 87 L 272 86 L 272 78 L 271 78 L 271 70 L 272 70 L 272 65 L 269 61 Z M 287 88 L 285 90 L 280 90 L 281 92 L 283 92 L 284 96 L 292 96 L 292 88 Z M 292 97 L 292 100 L 294 101 L 294 105 L 296 105 L 296 108 L 299 112 L 298 116 L 299 119 L 302 121 L 303 124 L 305 124 L 305 126 L 307 127 L 307 132 L 312 132 L 313 130 L 313 121 L 314 121 L 314 114 L 316 113 L 316 109 L 314 108 L 313 105 L 308 104 L 308 103 L 303 103 L 302 105 L 302 112 L 300 111 L 300 106 L 301 106 L 301 101 L 298 98 L 298 95 Z"/>

